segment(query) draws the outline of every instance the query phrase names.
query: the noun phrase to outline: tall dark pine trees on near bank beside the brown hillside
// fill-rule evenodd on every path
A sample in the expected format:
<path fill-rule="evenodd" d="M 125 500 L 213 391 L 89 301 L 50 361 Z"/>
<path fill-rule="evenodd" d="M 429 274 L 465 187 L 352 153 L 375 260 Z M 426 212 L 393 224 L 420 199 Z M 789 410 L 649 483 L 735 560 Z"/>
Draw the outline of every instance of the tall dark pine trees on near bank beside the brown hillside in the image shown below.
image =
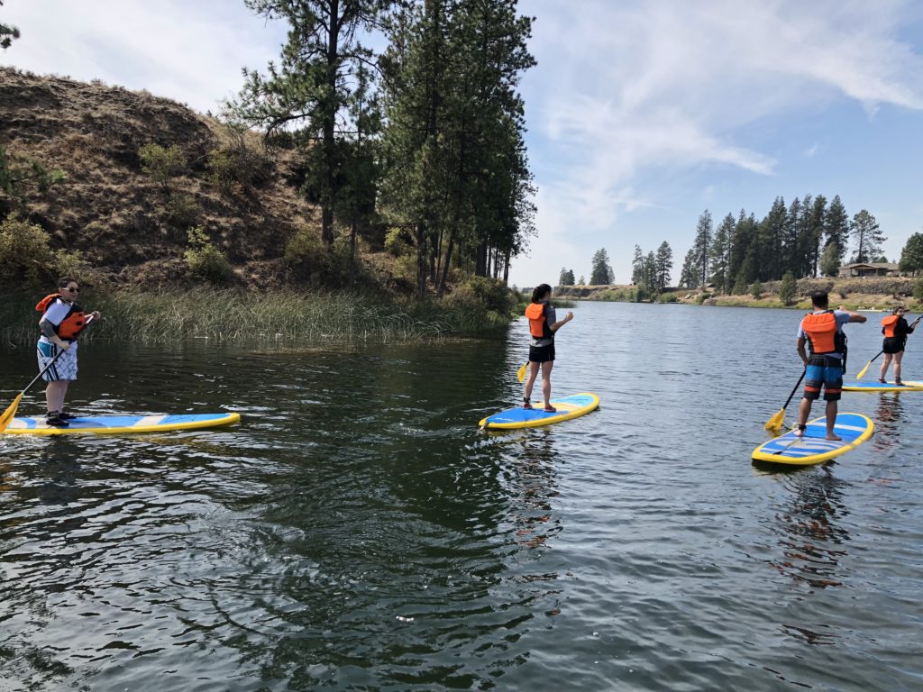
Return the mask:
<path fill-rule="evenodd" d="M 288 42 L 265 73 L 245 69 L 225 114 L 301 152 L 323 243 L 348 237 L 354 257 L 370 228 L 401 233 L 421 296 L 453 267 L 507 280 L 534 233 L 517 0 L 245 2 L 287 21 Z"/>

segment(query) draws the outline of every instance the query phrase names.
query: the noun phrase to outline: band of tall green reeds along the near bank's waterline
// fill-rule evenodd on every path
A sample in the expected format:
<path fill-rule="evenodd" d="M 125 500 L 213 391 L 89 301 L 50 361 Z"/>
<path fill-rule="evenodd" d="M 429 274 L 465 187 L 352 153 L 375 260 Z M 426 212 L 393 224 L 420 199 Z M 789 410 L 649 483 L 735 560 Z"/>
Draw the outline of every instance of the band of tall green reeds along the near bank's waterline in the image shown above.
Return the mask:
<path fill-rule="evenodd" d="M 0 338 L 38 336 L 41 296 L 0 304 Z M 255 293 L 210 288 L 188 291 L 85 292 L 81 304 L 102 313 L 84 339 L 167 342 L 185 339 L 381 342 L 424 340 L 500 328 L 507 316 L 452 301 L 382 301 L 348 292 Z"/>

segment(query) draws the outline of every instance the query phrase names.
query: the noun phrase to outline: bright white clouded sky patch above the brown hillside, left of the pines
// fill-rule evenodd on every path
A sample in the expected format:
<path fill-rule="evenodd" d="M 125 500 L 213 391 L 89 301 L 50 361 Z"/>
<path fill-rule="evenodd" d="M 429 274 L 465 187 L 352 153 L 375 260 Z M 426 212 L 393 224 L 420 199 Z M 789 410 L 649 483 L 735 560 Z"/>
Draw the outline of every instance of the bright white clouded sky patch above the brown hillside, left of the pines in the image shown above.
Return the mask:
<path fill-rule="evenodd" d="M 0 65 L 148 89 L 199 111 L 217 110 L 241 68 L 264 68 L 284 39 L 237 0 L 7 0 L 0 12 L 22 32 Z"/>

